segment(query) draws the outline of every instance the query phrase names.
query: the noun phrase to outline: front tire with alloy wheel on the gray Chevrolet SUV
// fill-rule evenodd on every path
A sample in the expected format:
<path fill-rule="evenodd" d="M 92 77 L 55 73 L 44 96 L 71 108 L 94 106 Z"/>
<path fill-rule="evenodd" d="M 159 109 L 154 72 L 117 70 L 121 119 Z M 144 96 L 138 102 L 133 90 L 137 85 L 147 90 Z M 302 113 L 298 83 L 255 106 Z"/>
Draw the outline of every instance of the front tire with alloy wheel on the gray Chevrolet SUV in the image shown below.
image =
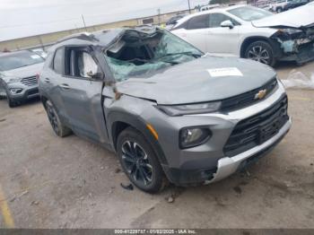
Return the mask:
<path fill-rule="evenodd" d="M 163 189 L 166 179 L 161 164 L 144 135 L 127 127 L 118 135 L 117 152 L 126 176 L 135 187 L 151 194 Z"/>

